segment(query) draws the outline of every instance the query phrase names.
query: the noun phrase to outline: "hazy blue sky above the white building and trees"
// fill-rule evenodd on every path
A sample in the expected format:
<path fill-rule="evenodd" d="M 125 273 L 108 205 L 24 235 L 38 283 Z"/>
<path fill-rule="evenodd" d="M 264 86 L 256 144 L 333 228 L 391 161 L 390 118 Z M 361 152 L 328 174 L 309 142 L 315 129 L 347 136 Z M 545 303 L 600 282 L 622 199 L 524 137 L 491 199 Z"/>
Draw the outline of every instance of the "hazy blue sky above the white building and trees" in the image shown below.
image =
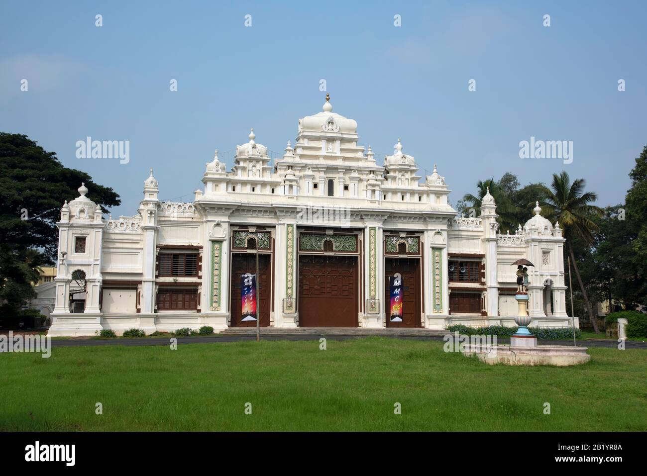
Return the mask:
<path fill-rule="evenodd" d="M 549 182 L 562 169 L 600 206 L 624 200 L 647 144 L 647 3 L 368 5 L 4 0 L 0 131 L 113 187 L 113 215 L 132 215 L 150 167 L 160 198 L 190 201 L 214 149 L 232 166 L 250 127 L 282 153 L 298 118 L 321 110 L 325 79 L 361 145 L 391 154 L 402 138 L 422 174 L 438 164 L 454 204 L 480 179 Z M 130 162 L 76 158 L 86 136 L 129 140 Z M 521 159 L 531 136 L 573 140 L 573 163 Z"/>

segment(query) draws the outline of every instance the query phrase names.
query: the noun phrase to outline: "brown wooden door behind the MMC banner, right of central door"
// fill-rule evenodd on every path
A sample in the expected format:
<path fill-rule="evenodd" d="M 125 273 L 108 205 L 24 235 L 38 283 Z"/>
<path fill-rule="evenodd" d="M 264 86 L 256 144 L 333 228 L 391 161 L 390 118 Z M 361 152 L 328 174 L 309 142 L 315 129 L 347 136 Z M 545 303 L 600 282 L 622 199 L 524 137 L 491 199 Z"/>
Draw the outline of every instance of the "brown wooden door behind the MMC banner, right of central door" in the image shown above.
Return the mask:
<path fill-rule="evenodd" d="M 386 327 L 421 327 L 420 260 L 406 258 L 384 258 L 384 313 Z M 402 322 L 391 322 L 389 276 L 402 275 Z"/>

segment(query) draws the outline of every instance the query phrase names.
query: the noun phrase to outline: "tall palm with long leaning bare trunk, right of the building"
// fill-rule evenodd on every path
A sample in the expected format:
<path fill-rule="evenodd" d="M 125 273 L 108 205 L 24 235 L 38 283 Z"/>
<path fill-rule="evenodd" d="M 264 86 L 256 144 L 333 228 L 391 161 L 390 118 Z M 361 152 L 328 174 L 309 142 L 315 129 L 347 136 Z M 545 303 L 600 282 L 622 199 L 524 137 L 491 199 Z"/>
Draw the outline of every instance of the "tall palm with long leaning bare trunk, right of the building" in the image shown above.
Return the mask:
<path fill-rule="evenodd" d="M 575 276 L 580 284 L 582 296 L 584 296 L 584 303 L 586 310 L 589 313 L 593 330 L 599 334 L 597 319 L 593 316 L 593 309 L 589 302 L 589 296 L 586 294 L 580 270 L 575 261 L 575 254 L 573 253 L 573 246 L 571 246 L 571 238 L 578 237 L 585 243 L 593 241 L 593 232 L 598 229 L 597 224 L 592 220 L 593 217 L 602 217 L 604 211 L 602 208 L 591 205 L 598 199 L 598 195 L 592 191 L 584 191 L 586 180 L 576 179 L 571 184 L 571 178 L 568 173 L 563 171 L 560 175 L 553 174 L 553 183 L 551 188 L 544 187 L 545 204 L 547 208 L 547 217 L 555 217 L 562 228 L 562 236 L 566 239 L 566 246 L 573 261 L 573 268 L 575 268 Z"/>

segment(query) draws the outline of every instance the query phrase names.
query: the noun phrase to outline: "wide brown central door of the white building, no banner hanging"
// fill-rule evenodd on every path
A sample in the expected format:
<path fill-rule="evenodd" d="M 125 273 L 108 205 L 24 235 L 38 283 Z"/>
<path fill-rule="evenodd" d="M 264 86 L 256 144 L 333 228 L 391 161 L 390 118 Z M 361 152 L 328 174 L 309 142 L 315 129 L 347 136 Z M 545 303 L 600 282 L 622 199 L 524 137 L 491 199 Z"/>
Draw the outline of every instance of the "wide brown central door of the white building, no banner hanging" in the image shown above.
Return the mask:
<path fill-rule="evenodd" d="M 299 326 L 357 327 L 357 257 L 299 257 Z"/>

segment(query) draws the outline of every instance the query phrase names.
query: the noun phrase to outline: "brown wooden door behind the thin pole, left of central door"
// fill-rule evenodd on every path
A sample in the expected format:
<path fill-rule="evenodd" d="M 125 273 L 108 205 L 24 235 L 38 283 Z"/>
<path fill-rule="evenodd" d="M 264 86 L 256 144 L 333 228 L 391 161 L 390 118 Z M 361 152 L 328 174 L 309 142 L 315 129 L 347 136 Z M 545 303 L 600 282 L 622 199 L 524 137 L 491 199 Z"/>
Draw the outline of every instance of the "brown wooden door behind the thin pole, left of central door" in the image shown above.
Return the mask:
<path fill-rule="evenodd" d="M 241 275 L 245 273 L 256 274 L 256 254 L 232 254 L 232 299 L 230 310 L 232 327 L 256 327 L 256 321 L 243 321 L 242 309 L 242 281 Z M 260 316 L 261 327 L 270 325 L 270 255 L 258 255 L 258 290 L 261 295 Z"/>

